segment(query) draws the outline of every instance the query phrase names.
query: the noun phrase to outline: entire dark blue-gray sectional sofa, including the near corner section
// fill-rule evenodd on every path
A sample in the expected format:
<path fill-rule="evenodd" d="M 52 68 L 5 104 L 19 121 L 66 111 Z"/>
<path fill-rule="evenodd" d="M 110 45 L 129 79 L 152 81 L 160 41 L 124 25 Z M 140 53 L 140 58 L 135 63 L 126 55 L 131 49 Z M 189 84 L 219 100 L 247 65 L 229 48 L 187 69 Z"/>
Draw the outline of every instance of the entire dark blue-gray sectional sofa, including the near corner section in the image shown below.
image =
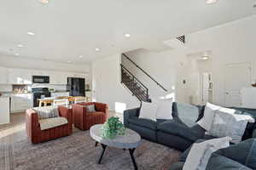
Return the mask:
<path fill-rule="evenodd" d="M 251 115 L 256 120 L 256 109 L 247 109 L 247 108 L 233 108 L 236 109 L 239 114 L 247 114 Z M 193 111 L 192 111 L 193 110 Z M 193 112 L 193 114 L 192 114 Z M 205 130 L 196 124 L 204 113 L 204 106 L 195 106 L 195 105 L 183 105 L 178 104 L 176 102 L 172 105 L 172 120 L 157 120 L 157 122 L 138 118 L 140 113 L 140 108 L 127 110 L 124 112 L 124 124 L 125 127 L 131 128 L 137 133 L 139 133 L 143 139 L 148 139 L 150 141 L 165 144 L 166 146 L 175 148 L 177 150 L 183 151 L 183 155 L 176 164 L 171 167 L 171 170 L 181 170 L 183 168 L 183 163 L 186 159 L 186 156 L 189 154 L 189 150 L 192 144 L 195 142 L 200 142 L 206 139 L 213 139 L 214 137 L 206 135 Z M 244 150 L 243 153 L 247 153 L 248 150 L 253 150 L 253 153 L 256 154 L 256 142 L 251 139 L 253 135 L 256 135 L 256 123 L 248 123 L 246 132 L 242 140 L 246 140 L 240 144 L 232 145 L 230 148 L 232 150 L 223 149 L 218 150 L 214 154 L 212 154 L 211 161 L 207 167 L 208 170 L 222 170 L 222 169 L 239 169 L 236 168 L 236 165 L 239 167 L 241 165 L 245 166 L 241 169 L 252 169 L 254 164 L 256 163 L 256 156 L 254 155 L 251 158 L 253 161 L 253 166 L 248 166 L 244 161 L 238 160 L 237 162 L 233 162 L 234 159 L 230 158 L 228 153 L 232 155 L 239 155 L 241 150 Z M 255 136 L 256 138 L 256 136 Z M 253 142 L 252 142 L 253 141 Z M 251 145 L 250 145 L 251 144 Z M 247 147 L 247 145 L 252 146 L 251 148 Z M 251 150 L 251 151 L 252 151 Z M 215 157 L 214 157 L 215 156 Z M 223 164 L 223 167 L 215 166 L 215 164 L 219 163 L 220 158 L 226 160 L 227 162 Z M 244 158 L 246 159 L 246 158 Z M 235 159 L 236 161 L 236 159 Z M 232 163 L 233 162 L 233 163 Z M 229 165 L 232 164 L 232 166 Z M 236 165 L 235 165 L 236 164 Z M 230 168 L 227 167 L 230 166 Z M 246 168 L 247 167 L 247 168 Z M 232 169 L 232 170 L 233 170 Z M 255 169 L 255 168 L 254 168 Z"/>

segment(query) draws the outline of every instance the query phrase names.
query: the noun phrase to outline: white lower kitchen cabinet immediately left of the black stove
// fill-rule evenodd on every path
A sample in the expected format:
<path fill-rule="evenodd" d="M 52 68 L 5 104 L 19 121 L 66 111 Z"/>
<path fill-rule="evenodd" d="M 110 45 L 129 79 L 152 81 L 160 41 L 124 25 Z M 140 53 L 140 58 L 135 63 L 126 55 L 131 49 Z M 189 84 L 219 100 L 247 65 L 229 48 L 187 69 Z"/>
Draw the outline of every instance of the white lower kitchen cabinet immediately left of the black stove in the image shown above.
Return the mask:
<path fill-rule="evenodd" d="M 26 111 L 32 108 L 33 97 L 32 94 L 11 94 L 11 112 Z"/>

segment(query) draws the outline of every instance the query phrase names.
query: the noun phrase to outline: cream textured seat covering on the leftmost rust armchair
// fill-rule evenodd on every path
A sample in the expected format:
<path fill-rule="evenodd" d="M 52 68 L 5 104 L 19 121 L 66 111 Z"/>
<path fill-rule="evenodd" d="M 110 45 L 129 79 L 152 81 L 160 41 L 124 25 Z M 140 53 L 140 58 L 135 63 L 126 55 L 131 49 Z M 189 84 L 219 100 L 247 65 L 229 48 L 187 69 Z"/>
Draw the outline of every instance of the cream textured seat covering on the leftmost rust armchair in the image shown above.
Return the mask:
<path fill-rule="evenodd" d="M 41 130 L 46 130 L 53 127 L 59 127 L 67 123 L 68 123 L 67 118 L 65 117 L 55 117 L 55 118 L 39 120 Z"/>

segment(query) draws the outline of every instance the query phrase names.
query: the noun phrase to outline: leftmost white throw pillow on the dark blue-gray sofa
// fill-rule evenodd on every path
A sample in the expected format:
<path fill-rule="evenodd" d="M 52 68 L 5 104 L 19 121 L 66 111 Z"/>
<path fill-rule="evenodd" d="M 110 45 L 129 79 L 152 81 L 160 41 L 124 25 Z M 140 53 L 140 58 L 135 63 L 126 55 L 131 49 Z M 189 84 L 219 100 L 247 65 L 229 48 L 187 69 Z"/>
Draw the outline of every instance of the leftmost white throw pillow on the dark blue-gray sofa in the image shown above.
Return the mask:
<path fill-rule="evenodd" d="M 139 118 L 149 119 L 156 122 L 157 105 L 148 102 L 142 102 Z"/>

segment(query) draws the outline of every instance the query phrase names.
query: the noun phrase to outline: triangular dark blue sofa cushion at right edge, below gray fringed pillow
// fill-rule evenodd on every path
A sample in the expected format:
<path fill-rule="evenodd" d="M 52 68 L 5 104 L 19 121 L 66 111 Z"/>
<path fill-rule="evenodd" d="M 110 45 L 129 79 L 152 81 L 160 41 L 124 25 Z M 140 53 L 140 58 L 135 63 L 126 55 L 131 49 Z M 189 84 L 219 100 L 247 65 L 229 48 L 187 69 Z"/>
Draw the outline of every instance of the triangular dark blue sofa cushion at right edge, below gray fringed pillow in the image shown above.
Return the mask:
<path fill-rule="evenodd" d="M 256 169 L 256 139 L 247 139 L 215 152 L 217 155 L 238 161 L 246 167 Z"/>

